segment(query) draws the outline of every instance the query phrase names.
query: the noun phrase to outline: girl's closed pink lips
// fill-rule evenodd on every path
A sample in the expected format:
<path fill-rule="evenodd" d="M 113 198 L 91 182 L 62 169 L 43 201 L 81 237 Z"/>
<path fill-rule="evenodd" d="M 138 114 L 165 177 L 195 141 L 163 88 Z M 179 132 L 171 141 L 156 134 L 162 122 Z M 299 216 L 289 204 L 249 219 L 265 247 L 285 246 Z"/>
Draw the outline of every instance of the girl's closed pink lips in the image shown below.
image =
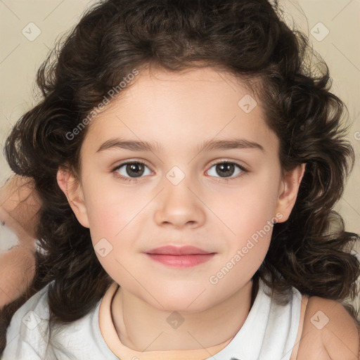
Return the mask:
<path fill-rule="evenodd" d="M 152 249 L 146 252 L 146 255 L 155 262 L 160 262 L 167 266 L 186 268 L 207 262 L 215 253 L 190 245 L 181 247 L 167 245 Z"/>

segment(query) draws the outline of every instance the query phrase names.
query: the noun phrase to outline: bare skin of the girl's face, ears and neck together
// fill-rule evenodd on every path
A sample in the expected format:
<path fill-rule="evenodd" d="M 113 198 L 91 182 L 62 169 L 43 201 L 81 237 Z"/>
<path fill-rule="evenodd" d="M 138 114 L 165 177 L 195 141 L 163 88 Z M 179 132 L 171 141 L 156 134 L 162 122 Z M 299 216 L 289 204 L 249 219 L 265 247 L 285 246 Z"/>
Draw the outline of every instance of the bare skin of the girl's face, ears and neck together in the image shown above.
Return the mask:
<path fill-rule="evenodd" d="M 233 338 L 250 309 L 252 275 L 269 248 L 271 230 L 216 284 L 210 276 L 226 266 L 247 240 L 278 217 L 286 221 L 295 204 L 304 164 L 281 176 L 279 141 L 264 121 L 260 99 L 245 113 L 238 101 L 251 94 L 226 72 L 212 68 L 186 72 L 143 70 L 89 126 L 81 150 L 81 179 L 63 169 L 58 184 L 96 246 L 106 239 L 112 250 L 96 252 L 121 288 L 112 305 L 122 343 L 137 351 L 199 349 Z M 163 151 L 111 148 L 109 139 L 158 141 Z M 233 137 L 255 141 L 255 148 L 199 152 L 205 140 Z M 147 167 L 137 182 L 125 161 Z M 214 163 L 238 163 L 226 183 Z M 172 167 L 184 179 L 167 179 Z M 171 174 L 171 172 L 170 172 Z M 133 175 L 134 176 L 134 175 Z M 176 175 L 177 176 L 177 175 Z M 110 244 L 110 245 L 109 245 Z M 175 269 L 144 252 L 162 245 L 194 245 L 216 254 L 210 261 Z M 178 311 L 179 328 L 167 323 Z M 215 330 L 216 329 L 216 330 Z M 150 346 L 149 346 L 150 344 Z"/>

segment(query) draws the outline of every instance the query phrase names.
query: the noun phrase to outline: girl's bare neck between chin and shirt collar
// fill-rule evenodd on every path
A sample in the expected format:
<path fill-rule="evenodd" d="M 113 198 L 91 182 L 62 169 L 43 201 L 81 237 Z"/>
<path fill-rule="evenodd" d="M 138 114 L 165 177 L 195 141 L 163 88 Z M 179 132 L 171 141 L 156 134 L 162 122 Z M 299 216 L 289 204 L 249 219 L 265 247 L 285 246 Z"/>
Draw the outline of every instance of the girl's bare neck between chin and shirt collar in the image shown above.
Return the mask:
<path fill-rule="evenodd" d="M 150 306 L 119 288 L 111 311 L 122 344 L 135 351 L 192 350 L 231 340 L 248 317 L 257 293 L 252 281 L 215 307 L 197 313 L 181 313 L 184 322 L 172 328 L 167 317 L 172 311 Z M 164 326 L 166 324 L 166 326 Z"/>

